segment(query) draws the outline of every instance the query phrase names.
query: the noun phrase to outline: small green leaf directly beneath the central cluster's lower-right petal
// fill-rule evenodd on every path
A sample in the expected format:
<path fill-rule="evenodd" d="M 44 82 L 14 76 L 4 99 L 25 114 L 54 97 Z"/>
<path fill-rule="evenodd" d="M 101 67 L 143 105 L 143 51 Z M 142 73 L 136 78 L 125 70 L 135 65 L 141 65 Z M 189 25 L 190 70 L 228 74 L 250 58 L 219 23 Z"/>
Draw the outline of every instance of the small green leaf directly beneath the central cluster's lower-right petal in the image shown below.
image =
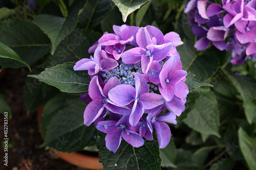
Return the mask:
<path fill-rule="evenodd" d="M 164 149 L 160 149 L 160 156 L 162 158 L 162 167 L 177 167 L 175 165 L 176 147 L 174 138 L 170 138 L 170 142 Z"/>

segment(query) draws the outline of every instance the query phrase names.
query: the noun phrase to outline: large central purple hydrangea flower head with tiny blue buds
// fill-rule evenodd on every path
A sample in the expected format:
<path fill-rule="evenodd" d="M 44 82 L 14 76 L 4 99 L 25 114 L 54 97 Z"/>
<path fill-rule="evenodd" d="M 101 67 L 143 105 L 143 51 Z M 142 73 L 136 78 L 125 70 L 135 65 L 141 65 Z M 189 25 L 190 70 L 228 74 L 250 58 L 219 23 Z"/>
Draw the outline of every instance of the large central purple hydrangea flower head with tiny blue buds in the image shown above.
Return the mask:
<path fill-rule="evenodd" d="M 171 136 L 166 123 L 177 124 L 188 94 L 187 72 L 176 50 L 183 42 L 177 33 L 163 35 L 152 26 L 122 25 L 113 30 L 114 34 L 104 33 L 89 49 L 93 57 L 74 66 L 91 76 L 88 93 L 81 95 L 90 102 L 84 124 L 94 122 L 106 133 L 106 147 L 113 152 L 122 139 L 133 147 L 144 144 L 142 137 L 153 140 L 154 129 L 159 148 L 164 148 Z"/>

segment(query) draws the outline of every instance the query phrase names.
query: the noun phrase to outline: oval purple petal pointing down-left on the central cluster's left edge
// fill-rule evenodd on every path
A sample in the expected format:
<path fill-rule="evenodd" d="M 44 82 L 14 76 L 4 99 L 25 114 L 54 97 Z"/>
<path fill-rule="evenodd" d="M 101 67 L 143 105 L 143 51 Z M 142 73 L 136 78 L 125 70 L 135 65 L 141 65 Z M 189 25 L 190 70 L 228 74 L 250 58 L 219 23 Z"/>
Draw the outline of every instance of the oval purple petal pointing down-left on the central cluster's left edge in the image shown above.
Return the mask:
<path fill-rule="evenodd" d="M 100 99 L 94 100 L 89 103 L 83 113 L 83 123 L 86 126 L 90 126 L 94 122 L 94 120 L 96 120 L 100 116 L 104 108 L 105 107 L 103 105 L 103 101 Z"/>

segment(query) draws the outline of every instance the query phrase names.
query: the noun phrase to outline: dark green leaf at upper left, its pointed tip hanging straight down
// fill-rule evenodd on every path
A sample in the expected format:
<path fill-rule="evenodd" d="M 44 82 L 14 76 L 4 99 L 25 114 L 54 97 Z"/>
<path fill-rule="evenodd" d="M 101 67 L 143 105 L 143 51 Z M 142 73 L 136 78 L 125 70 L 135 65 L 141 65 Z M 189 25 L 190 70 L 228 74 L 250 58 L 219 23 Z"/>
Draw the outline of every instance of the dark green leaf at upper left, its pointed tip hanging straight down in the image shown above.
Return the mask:
<path fill-rule="evenodd" d="M 86 1 L 76 0 L 70 7 L 67 18 L 55 15 L 41 14 L 34 16 L 34 23 L 44 31 L 52 42 L 53 54 L 58 44 L 69 35 L 77 25 L 78 15 L 86 5 Z"/>

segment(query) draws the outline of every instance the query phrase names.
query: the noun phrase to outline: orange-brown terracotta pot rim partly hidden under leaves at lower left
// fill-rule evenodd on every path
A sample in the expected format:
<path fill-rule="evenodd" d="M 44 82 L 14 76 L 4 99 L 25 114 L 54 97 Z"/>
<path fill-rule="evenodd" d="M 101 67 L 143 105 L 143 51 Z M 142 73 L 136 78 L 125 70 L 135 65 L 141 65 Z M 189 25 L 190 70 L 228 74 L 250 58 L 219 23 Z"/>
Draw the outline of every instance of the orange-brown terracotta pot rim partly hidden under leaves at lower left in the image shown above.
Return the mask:
<path fill-rule="evenodd" d="M 44 106 L 40 106 L 37 111 L 37 122 L 38 128 L 41 133 L 41 118 L 42 118 L 42 111 L 44 110 Z M 103 169 L 102 163 L 99 163 L 99 157 L 83 155 L 77 152 L 73 153 L 63 153 L 60 151 L 56 151 L 56 154 L 66 162 L 69 162 L 73 165 L 78 167 L 83 167 L 87 169 Z"/>

